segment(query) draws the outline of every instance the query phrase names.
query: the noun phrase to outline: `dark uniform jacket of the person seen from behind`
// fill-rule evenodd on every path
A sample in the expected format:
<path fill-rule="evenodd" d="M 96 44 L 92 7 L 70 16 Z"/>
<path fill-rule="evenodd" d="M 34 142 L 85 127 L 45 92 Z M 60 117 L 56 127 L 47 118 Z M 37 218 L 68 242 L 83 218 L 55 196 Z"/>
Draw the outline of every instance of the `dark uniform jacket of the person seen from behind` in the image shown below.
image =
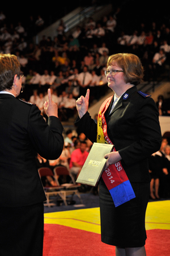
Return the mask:
<path fill-rule="evenodd" d="M 46 200 L 35 156 L 57 159 L 63 149 L 63 127 L 57 117 L 48 124 L 36 105 L 0 94 L 0 207 L 22 207 Z"/>

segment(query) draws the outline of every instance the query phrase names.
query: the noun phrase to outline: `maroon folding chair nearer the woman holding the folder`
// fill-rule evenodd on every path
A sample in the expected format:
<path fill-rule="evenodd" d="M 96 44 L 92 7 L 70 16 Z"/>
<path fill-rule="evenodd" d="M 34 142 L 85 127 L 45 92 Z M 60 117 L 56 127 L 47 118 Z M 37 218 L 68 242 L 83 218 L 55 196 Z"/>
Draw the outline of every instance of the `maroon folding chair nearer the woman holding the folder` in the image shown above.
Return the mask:
<path fill-rule="evenodd" d="M 70 183 L 59 183 L 59 178 L 61 177 L 70 177 Z M 65 205 L 67 205 L 67 196 L 68 195 L 77 195 L 79 197 L 80 202 L 83 204 L 82 198 L 80 196 L 80 193 L 78 191 L 78 188 L 80 187 L 79 184 L 75 183 L 74 177 L 70 174 L 69 170 L 64 166 L 57 166 L 54 168 L 54 177 L 56 178 L 56 182 L 58 185 L 63 187 L 62 195 L 63 195 L 63 201 Z"/>

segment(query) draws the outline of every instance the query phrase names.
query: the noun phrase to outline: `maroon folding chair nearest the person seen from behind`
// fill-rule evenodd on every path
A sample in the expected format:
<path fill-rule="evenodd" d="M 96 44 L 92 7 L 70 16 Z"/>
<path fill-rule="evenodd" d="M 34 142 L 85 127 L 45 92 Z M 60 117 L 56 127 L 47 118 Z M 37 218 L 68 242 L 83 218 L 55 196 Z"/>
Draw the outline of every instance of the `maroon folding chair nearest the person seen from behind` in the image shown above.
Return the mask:
<path fill-rule="evenodd" d="M 40 178 L 44 177 L 44 176 L 54 177 L 52 170 L 48 167 L 41 167 L 38 169 L 38 171 L 39 171 Z M 54 180 L 56 180 L 55 177 L 54 177 Z M 43 187 L 44 187 L 44 192 L 46 195 L 46 204 L 44 204 L 44 205 L 48 205 L 48 207 L 55 205 L 54 203 L 50 203 L 50 201 L 52 201 L 52 199 L 50 199 L 50 196 L 54 197 L 54 196 L 58 195 L 63 200 L 63 194 L 62 194 L 63 187 L 62 186 L 48 185 L 48 186 L 43 186 Z"/>

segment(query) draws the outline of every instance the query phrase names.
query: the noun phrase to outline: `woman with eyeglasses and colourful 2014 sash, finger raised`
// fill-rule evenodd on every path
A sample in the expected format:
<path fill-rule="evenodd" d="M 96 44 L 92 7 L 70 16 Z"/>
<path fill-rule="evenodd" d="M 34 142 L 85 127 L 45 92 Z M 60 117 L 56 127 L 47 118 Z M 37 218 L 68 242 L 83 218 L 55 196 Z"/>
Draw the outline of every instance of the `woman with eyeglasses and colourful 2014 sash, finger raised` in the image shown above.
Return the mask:
<path fill-rule="evenodd" d="M 116 246 L 116 256 L 145 256 L 148 157 L 162 141 L 159 113 L 150 95 L 137 89 L 143 79 L 138 56 L 109 56 L 105 75 L 113 96 L 101 105 L 97 124 L 88 113 L 89 89 L 76 101 L 75 124 L 91 142 L 114 144 L 99 183 L 101 241 Z"/>

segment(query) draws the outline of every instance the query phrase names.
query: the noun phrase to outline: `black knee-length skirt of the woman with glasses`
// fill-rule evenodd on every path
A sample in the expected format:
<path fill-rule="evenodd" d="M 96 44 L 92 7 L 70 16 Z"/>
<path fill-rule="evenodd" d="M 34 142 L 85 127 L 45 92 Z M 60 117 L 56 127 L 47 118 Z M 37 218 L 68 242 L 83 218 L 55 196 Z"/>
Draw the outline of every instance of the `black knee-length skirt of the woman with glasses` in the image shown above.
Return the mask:
<path fill-rule="evenodd" d="M 115 207 L 103 179 L 100 179 L 101 241 L 118 247 L 142 247 L 146 241 L 145 214 L 150 183 L 131 183 L 135 198 Z"/>

